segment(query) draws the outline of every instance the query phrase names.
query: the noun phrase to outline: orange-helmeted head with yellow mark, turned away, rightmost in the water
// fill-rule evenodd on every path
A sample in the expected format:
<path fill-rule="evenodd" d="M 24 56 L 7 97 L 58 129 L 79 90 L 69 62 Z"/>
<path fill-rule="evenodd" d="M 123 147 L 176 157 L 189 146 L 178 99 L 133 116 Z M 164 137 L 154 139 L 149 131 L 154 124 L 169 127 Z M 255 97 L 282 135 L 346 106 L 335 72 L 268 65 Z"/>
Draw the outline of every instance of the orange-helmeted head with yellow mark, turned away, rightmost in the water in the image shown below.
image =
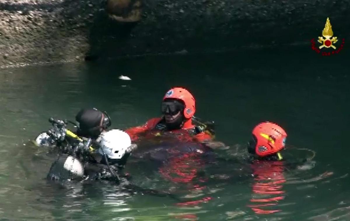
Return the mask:
<path fill-rule="evenodd" d="M 279 125 L 262 122 L 254 127 L 248 152 L 255 157 L 282 159 L 280 151 L 285 148 L 287 133 Z"/>

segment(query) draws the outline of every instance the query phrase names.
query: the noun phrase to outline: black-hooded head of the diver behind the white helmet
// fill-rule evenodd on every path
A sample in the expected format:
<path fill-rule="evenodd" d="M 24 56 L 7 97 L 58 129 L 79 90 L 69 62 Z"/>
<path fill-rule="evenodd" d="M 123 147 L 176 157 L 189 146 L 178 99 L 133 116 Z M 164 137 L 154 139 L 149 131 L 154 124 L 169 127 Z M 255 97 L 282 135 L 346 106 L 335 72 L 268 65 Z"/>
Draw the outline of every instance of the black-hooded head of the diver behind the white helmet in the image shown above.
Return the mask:
<path fill-rule="evenodd" d="M 96 108 L 81 109 L 75 116 L 75 120 L 79 123 L 77 134 L 90 138 L 97 138 L 112 124 L 109 115 Z"/>

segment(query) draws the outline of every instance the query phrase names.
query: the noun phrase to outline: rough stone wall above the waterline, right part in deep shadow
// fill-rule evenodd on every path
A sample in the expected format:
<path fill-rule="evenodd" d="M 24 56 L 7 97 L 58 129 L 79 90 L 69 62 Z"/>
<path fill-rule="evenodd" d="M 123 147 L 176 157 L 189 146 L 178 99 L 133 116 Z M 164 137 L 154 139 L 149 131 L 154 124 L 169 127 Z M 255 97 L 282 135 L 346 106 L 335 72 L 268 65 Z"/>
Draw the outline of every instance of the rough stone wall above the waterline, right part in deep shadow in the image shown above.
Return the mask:
<path fill-rule="evenodd" d="M 0 66 L 309 44 L 345 0 L 0 0 Z M 311 50 L 311 49 L 310 49 Z"/>

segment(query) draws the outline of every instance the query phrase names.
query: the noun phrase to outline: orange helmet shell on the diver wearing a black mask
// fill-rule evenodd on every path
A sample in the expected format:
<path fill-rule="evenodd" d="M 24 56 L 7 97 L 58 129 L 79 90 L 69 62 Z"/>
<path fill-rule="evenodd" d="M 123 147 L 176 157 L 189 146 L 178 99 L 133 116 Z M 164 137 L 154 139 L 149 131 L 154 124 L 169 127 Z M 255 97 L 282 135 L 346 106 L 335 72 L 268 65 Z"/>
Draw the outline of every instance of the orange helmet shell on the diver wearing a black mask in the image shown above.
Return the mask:
<path fill-rule="evenodd" d="M 183 115 L 186 119 L 191 118 L 196 112 L 196 100 L 193 95 L 182 87 L 171 88 L 163 97 L 163 101 L 167 98 L 178 99 L 184 102 L 185 108 L 183 109 Z"/>

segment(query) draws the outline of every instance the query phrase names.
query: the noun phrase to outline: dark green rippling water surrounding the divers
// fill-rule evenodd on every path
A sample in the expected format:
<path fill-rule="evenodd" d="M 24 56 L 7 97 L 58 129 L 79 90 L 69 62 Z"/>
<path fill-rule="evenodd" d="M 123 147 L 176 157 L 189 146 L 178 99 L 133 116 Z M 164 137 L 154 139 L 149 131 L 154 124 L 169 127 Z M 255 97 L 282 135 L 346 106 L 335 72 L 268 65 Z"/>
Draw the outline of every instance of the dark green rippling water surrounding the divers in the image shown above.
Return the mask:
<path fill-rule="evenodd" d="M 340 54 L 326 58 L 303 50 L 1 70 L 1 220 L 349 220 L 348 70 Z M 119 80 L 121 74 L 132 80 Z M 270 197 L 281 198 L 262 204 L 275 204 L 266 209 L 279 212 L 257 214 L 249 207 L 259 204 L 251 202 L 259 194 L 253 192 L 257 181 L 250 176 L 250 164 L 208 165 L 202 190 L 173 184 L 141 165 L 127 168 L 143 187 L 170 188 L 181 199 L 202 200 L 189 205 L 128 194 L 109 183 L 59 186 L 45 181 L 55 156 L 28 140 L 49 128 L 49 117 L 73 119 L 81 107 L 93 106 L 110 114 L 113 128 L 125 129 L 158 116 L 163 94 L 178 85 L 193 92 L 196 115 L 216 122 L 216 138 L 230 146 L 231 154 L 238 147 L 239 156 L 244 155 L 251 129 L 265 120 L 286 129 L 289 159 L 312 155 L 297 148 L 315 151 L 314 167 L 273 172 L 283 175 L 276 180 L 285 181 L 275 185 L 281 193 Z"/>

